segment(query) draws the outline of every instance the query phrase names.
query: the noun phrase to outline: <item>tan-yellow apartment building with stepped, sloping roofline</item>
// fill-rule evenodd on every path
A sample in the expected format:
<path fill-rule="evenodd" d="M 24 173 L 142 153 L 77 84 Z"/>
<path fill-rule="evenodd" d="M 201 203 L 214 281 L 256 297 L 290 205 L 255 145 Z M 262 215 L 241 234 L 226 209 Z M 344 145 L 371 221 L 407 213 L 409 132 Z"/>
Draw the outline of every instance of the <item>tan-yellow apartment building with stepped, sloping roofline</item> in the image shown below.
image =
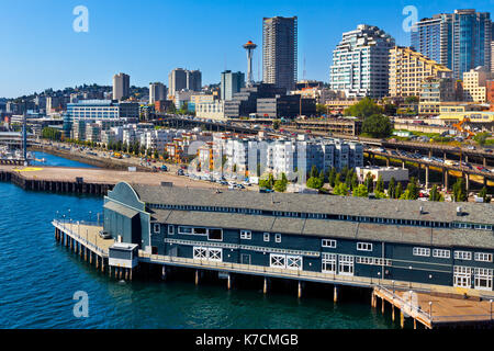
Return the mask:
<path fill-rule="evenodd" d="M 390 50 L 390 97 L 418 97 L 424 79 L 430 77 L 449 78 L 452 71 L 408 47 Z"/>

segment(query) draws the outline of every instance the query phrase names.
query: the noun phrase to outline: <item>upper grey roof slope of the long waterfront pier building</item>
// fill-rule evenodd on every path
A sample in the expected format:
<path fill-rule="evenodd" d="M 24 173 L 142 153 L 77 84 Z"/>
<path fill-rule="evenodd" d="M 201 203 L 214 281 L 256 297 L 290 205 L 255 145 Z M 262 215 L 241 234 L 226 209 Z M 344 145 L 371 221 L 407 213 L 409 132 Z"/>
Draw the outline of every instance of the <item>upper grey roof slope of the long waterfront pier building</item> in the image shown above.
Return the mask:
<path fill-rule="evenodd" d="M 257 193 L 178 186 L 132 185 L 146 204 L 217 206 L 260 211 L 350 215 L 425 222 L 494 224 L 494 206 L 482 203 L 370 200 L 292 193 Z M 462 215 L 457 215 L 457 207 Z M 420 212 L 422 208 L 422 212 Z"/>

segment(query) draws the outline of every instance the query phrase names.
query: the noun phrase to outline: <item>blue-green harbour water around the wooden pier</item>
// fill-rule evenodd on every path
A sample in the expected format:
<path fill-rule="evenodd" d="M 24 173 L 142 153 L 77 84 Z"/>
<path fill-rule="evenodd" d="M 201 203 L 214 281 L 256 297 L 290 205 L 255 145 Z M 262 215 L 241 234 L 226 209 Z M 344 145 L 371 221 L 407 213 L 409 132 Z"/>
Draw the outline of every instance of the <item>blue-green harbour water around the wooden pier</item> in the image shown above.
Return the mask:
<path fill-rule="evenodd" d="M 82 167 L 43 155 L 47 163 Z M 88 166 L 86 166 L 88 167 Z M 27 192 L 0 183 L 0 328 L 394 328 L 368 298 L 333 304 L 291 293 L 190 281 L 117 282 L 56 244 L 56 212 L 89 219 L 102 199 Z M 261 288 L 259 286 L 259 288 Z M 89 296 L 89 317 L 72 315 L 74 293 Z"/>

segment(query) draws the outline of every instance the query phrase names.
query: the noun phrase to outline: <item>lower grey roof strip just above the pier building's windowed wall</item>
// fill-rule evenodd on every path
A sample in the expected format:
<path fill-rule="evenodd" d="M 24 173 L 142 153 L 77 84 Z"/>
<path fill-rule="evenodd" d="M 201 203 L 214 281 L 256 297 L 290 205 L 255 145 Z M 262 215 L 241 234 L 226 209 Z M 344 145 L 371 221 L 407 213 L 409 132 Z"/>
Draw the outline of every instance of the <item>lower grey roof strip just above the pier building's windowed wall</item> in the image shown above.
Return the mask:
<path fill-rule="evenodd" d="M 247 229 L 353 240 L 401 242 L 423 246 L 494 248 L 490 230 L 426 228 L 347 220 L 290 218 L 238 213 L 153 210 L 153 219 L 182 226 Z"/>

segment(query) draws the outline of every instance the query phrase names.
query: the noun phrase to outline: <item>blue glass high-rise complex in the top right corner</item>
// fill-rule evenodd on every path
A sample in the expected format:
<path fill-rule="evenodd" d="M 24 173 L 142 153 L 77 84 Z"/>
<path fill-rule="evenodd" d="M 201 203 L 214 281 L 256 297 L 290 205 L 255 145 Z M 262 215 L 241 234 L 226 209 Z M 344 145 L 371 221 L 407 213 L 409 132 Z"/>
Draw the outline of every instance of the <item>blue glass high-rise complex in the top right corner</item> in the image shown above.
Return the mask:
<path fill-rule="evenodd" d="M 411 35 L 414 50 L 447 66 L 457 79 L 475 67 L 491 67 L 491 14 L 471 9 L 423 19 Z"/>

